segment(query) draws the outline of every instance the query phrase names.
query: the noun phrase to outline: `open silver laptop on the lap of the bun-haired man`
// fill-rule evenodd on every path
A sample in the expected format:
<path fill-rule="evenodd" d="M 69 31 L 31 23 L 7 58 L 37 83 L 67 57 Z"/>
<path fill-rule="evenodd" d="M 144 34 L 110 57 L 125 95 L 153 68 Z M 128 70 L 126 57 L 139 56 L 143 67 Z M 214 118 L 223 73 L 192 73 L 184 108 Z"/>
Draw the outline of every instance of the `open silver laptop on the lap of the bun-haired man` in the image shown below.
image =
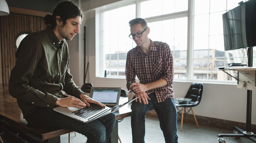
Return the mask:
<path fill-rule="evenodd" d="M 75 107 L 56 107 L 53 108 L 53 110 L 61 114 L 67 115 L 71 118 L 74 118 L 76 120 L 79 120 L 81 122 L 88 123 L 102 116 L 105 116 L 111 112 L 119 110 L 121 107 L 132 102 L 133 100 L 114 106 L 112 108 L 109 108 L 107 106 L 105 108 L 102 108 L 97 106 L 96 104 L 90 104 L 90 107 L 83 107 L 81 109 Z"/>

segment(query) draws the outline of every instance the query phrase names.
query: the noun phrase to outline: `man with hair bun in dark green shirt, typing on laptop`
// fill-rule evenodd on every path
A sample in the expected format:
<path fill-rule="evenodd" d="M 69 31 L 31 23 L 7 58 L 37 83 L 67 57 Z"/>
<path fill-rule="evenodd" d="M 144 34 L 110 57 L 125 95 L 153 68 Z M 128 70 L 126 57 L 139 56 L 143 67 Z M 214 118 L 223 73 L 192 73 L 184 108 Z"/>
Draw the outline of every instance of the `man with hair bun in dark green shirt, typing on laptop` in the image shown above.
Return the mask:
<path fill-rule="evenodd" d="M 57 4 L 52 15 L 44 17 L 46 29 L 31 33 L 20 42 L 9 92 L 17 99 L 28 123 L 73 130 L 86 136 L 88 143 L 107 143 L 116 122 L 113 113 L 83 123 L 53 111 L 57 106 L 82 108 L 91 103 L 105 107 L 80 90 L 69 71 L 66 40 L 79 33 L 82 19 L 83 11 L 76 4 Z"/>

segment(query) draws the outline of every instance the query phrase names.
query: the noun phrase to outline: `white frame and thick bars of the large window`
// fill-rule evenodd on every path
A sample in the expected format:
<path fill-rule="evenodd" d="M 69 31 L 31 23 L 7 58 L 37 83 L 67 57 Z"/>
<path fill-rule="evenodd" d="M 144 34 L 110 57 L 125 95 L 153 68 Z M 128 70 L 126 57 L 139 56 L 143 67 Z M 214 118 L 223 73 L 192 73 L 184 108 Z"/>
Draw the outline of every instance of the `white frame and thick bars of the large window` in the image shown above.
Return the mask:
<path fill-rule="evenodd" d="M 120 8 L 120 7 L 125 7 L 127 5 L 136 5 L 136 17 L 139 17 L 140 15 L 140 3 L 143 1 L 147 0 L 121 0 L 116 3 L 112 3 L 109 5 L 105 5 L 100 8 L 96 8 L 95 10 L 95 62 L 96 62 L 96 77 L 103 78 L 104 77 L 104 69 L 103 65 L 99 64 L 104 64 L 101 61 L 103 60 L 102 58 L 105 57 L 103 56 L 103 50 L 102 48 L 102 13 L 106 11 L 110 11 L 112 9 Z M 194 79 L 194 68 L 193 68 L 193 49 L 194 49 L 194 13 L 195 13 L 195 0 L 188 0 L 188 10 L 187 11 L 182 11 L 182 12 L 175 12 L 175 13 L 170 13 L 170 14 L 165 14 L 165 15 L 160 15 L 160 16 L 153 16 L 153 17 L 148 17 L 145 18 L 145 20 L 148 23 L 154 22 L 154 21 L 162 21 L 162 20 L 169 20 L 169 19 L 176 19 L 176 18 L 181 18 L 181 17 L 188 17 L 188 23 L 187 23 L 187 68 L 186 68 L 186 79 L 176 79 L 174 78 L 174 81 L 185 81 L 185 82 L 209 82 L 209 83 L 229 83 L 230 80 L 214 80 L 214 79 Z M 127 35 L 128 36 L 128 35 Z M 154 40 L 154 39 L 153 39 Z M 127 51 L 128 52 L 128 51 Z M 254 56 L 255 57 L 255 56 Z M 210 57 L 208 57 L 209 59 Z M 226 56 L 225 56 L 226 58 Z M 207 69 L 209 71 L 209 68 Z M 174 72 L 175 73 L 175 72 Z M 209 72 L 207 72 L 209 74 Z M 108 78 L 117 78 L 117 79 L 125 79 L 125 76 L 108 76 Z M 236 82 L 234 82 L 236 84 Z"/>

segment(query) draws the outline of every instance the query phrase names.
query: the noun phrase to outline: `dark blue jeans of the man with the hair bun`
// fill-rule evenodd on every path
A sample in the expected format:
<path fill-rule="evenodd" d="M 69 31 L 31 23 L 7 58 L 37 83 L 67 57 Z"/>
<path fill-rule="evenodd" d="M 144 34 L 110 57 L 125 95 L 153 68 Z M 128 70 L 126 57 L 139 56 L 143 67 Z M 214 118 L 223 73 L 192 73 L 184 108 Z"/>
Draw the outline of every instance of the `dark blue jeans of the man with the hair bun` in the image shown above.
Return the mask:
<path fill-rule="evenodd" d="M 87 137 L 88 143 L 108 143 L 116 116 L 111 113 L 89 123 L 83 123 L 53 111 L 53 108 L 38 107 L 26 117 L 26 120 L 37 126 L 65 128 L 78 132 Z"/>

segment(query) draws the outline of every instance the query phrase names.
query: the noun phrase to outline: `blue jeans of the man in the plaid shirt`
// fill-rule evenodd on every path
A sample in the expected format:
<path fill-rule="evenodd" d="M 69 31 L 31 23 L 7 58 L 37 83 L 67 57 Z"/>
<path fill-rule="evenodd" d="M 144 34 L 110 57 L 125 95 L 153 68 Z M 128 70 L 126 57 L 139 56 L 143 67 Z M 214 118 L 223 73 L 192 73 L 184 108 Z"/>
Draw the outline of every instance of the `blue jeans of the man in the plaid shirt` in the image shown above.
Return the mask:
<path fill-rule="evenodd" d="M 178 143 L 177 136 L 177 111 L 173 98 L 158 103 L 155 93 L 148 95 L 151 100 L 144 105 L 139 102 L 132 102 L 131 126 L 132 142 L 144 143 L 145 137 L 145 115 L 147 111 L 154 109 L 157 113 L 160 128 L 163 131 L 166 143 Z"/>

